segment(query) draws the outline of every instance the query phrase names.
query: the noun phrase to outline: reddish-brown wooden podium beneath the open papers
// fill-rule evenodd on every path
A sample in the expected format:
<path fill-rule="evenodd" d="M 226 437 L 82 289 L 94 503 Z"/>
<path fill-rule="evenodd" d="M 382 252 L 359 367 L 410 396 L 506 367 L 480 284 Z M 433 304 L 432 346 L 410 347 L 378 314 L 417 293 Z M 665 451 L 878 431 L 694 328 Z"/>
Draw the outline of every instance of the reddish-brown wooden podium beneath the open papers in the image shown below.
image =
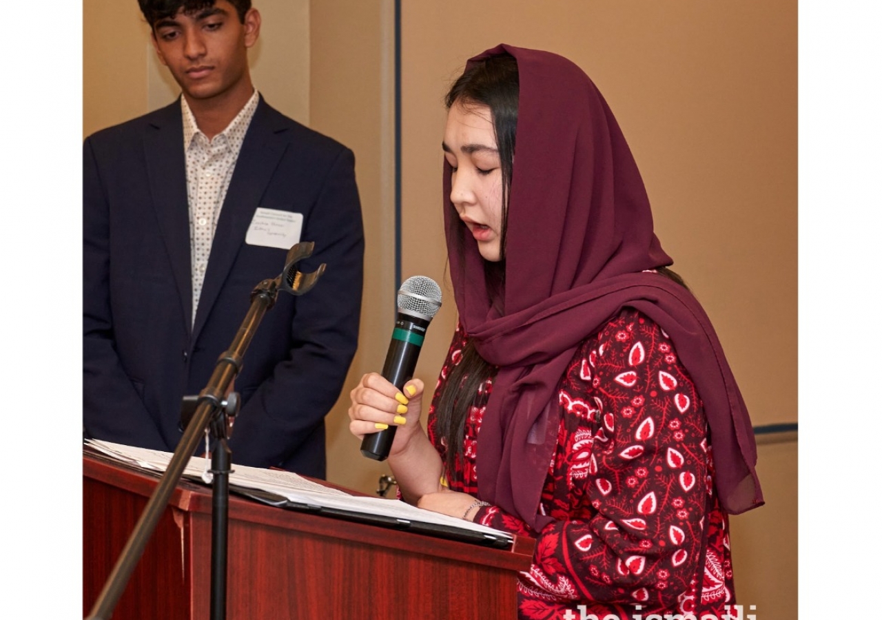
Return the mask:
<path fill-rule="evenodd" d="M 83 457 L 83 616 L 159 482 Z M 116 604 L 113 620 L 207 620 L 211 489 L 182 481 Z M 532 539 L 512 550 L 229 498 L 227 617 L 517 617 L 517 571 Z"/>

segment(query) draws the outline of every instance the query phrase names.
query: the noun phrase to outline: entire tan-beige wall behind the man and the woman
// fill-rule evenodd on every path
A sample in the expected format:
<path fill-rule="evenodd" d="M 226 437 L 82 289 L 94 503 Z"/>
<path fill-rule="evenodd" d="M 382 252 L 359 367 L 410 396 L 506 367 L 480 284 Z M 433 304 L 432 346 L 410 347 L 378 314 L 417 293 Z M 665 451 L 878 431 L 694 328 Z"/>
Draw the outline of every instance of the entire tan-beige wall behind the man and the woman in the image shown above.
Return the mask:
<path fill-rule="evenodd" d="M 796 422 L 796 0 L 402 3 L 402 277 L 445 305 L 418 376 L 432 384 L 455 321 L 445 279 L 440 139 L 446 86 L 499 42 L 549 49 L 594 78 L 628 138 L 664 248 L 704 303 L 755 424 Z M 385 463 L 348 435 L 348 390 L 385 358 L 394 311 L 392 0 L 257 0 L 255 83 L 355 151 L 365 297 L 359 352 L 328 416 L 328 474 L 372 492 Z M 174 96 L 135 0 L 84 2 L 84 135 Z M 163 90 L 165 89 L 165 90 Z M 739 600 L 796 618 L 796 441 L 759 447 L 766 507 L 732 518 Z"/>

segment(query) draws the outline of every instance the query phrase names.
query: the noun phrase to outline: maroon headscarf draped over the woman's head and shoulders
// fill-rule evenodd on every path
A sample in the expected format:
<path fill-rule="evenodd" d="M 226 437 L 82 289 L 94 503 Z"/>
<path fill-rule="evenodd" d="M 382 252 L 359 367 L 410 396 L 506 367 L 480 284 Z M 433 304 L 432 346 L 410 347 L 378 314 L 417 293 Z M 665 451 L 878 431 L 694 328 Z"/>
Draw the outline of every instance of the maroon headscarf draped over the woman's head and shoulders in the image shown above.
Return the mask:
<path fill-rule="evenodd" d="M 541 530 L 542 485 L 557 446 L 557 385 L 579 344 L 624 306 L 673 340 L 704 402 L 716 486 L 732 514 L 763 504 L 750 417 L 714 328 L 685 288 L 657 273 L 672 260 L 653 231 L 637 164 L 594 83 L 562 56 L 500 45 L 519 72 L 519 113 L 505 241 L 505 314 L 491 306 L 477 244 L 450 201 L 445 229 L 460 321 L 499 367 L 483 416 L 479 495 Z"/>

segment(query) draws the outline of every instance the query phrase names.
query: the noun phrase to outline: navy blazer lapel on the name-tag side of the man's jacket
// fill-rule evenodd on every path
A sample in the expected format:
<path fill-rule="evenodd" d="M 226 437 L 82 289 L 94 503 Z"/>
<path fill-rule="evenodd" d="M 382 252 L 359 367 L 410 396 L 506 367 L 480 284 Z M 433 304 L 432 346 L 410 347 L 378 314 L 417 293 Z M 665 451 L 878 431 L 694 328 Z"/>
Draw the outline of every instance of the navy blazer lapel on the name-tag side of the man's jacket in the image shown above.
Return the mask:
<path fill-rule="evenodd" d="M 236 254 L 245 243 L 245 235 L 260 198 L 281 159 L 287 142 L 286 127 L 273 123 L 276 113 L 261 97 L 258 108 L 251 118 L 236 159 L 233 177 L 230 179 L 227 197 L 224 198 L 221 216 L 214 230 L 212 251 L 208 258 L 206 279 L 199 295 L 193 340 L 206 324 L 212 306 L 221 294 L 221 287 L 235 263 Z M 267 274 L 274 277 L 276 274 Z M 258 282 L 254 283 L 255 286 Z M 244 318 L 244 317 L 243 317 Z"/>

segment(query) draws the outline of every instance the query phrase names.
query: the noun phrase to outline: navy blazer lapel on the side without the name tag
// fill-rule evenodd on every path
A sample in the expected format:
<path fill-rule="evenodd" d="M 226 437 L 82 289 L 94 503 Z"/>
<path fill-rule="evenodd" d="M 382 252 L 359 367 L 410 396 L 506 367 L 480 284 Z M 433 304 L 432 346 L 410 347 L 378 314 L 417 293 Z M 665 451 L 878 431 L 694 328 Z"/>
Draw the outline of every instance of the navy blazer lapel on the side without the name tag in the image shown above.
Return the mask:
<path fill-rule="evenodd" d="M 144 152 L 153 208 L 181 298 L 183 321 L 189 331 L 192 321 L 190 215 L 180 98 L 153 115 L 145 132 Z"/>

